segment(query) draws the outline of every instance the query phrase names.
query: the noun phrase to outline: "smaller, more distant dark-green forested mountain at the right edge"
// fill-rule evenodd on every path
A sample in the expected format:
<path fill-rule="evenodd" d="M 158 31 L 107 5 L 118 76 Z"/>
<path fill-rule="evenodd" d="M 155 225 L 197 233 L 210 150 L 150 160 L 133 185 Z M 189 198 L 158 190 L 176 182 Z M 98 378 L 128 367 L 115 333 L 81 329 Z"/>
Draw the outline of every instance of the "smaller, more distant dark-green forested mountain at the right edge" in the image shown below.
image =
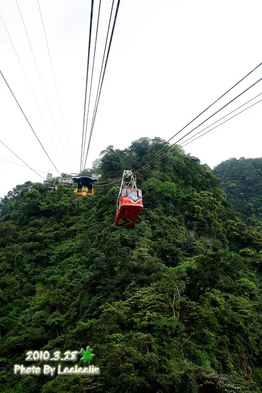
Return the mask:
<path fill-rule="evenodd" d="M 231 158 L 213 169 L 233 207 L 249 225 L 262 228 L 262 158 Z"/>

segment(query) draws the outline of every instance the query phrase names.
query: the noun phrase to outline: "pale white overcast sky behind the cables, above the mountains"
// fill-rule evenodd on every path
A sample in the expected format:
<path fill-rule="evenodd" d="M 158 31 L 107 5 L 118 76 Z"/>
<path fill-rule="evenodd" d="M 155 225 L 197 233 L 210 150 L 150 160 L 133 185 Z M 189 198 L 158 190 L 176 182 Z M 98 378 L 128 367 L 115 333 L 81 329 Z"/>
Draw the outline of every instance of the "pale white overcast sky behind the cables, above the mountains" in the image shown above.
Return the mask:
<path fill-rule="evenodd" d="M 39 3 L 74 164 L 56 96 L 37 0 L 18 0 L 18 4 L 65 154 L 15 0 L 2 0 L 0 13 L 58 152 L 39 114 L 1 19 L 0 69 L 58 170 L 79 172 L 91 0 L 39 0 Z M 95 0 L 91 53 L 94 50 L 98 4 L 99 1 Z M 101 2 L 89 121 L 93 115 L 111 5 L 111 0 Z M 121 0 L 85 167 L 90 167 L 100 151 L 110 144 L 123 149 L 141 137 L 169 139 L 251 71 L 262 61 L 261 14 L 262 3 L 258 0 Z M 92 62 L 93 57 L 90 59 L 89 83 Z M 262 66 L 180 135 L 185 135 L 261 77 Z M 262 81 L 202 128 L 261 92 Z M 262 102 L 192 142 L 185 151 L 199 157 L 211 168 L 230 157 L 260 157 L 261 108 Z M 32 168 L 46 172 L 51 169 L 54 175 L 57 174 L 1 76 L 0 139 Z M 0 157 L 24 165 L 2 144 Z M 0 160 L 0 173 L 0 197 L 17 184 L 28 180 L 42 181 L 30 169 L 3 160 Z"/>

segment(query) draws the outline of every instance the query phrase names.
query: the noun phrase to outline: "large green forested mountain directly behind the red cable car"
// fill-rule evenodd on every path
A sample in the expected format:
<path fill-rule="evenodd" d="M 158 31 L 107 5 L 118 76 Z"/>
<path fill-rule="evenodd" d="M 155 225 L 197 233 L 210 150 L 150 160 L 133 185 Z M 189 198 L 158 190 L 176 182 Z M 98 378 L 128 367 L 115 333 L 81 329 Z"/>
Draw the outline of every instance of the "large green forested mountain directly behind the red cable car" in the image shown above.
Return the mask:
<path fill-rule="evenodd" d="M 261 392 L 262 234 L 211 169 L 170 149 L 138 174 L 137 224 L 114 226 L 119 183 L 99 184 L 161 143 L 108 146 L 93 198 L 27 182 L 0 202 L 4 393 Z M 87 345 L 100 375 L 13 373 L 56 365 L 27 363 L 29 350 Z"/>

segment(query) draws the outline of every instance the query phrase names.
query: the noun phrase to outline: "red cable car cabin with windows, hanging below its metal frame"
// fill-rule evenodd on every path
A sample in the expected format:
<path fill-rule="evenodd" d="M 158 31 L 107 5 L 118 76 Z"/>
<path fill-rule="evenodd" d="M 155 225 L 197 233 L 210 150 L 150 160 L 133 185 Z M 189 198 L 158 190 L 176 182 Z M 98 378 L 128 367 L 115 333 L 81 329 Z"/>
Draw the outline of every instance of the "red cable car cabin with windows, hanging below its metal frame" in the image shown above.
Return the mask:
<path fill-rule="evenodd" d="M 115 225 L 119 227 L 132 227 L 136 224 L 137 216 L 142 209 L 141 190 L 123 188 L 117 201 Z"/>

